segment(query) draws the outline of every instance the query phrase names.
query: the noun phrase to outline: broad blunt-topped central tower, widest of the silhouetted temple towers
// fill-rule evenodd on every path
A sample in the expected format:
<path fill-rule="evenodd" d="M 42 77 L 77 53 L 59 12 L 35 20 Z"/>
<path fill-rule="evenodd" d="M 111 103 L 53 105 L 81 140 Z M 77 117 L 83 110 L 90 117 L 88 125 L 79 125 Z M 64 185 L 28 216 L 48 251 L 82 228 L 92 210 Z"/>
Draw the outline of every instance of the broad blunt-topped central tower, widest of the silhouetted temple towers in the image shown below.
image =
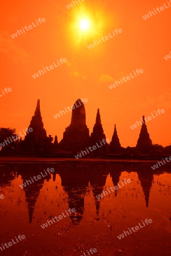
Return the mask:
<path fill-rule="evenodd" d="M 90 144 L 89 129 L 86 126 L 86 113 L 83 102 L 78 99 L 72 108 L 71 123 L 66 127 L 60 148 L 81 151 Z"/>

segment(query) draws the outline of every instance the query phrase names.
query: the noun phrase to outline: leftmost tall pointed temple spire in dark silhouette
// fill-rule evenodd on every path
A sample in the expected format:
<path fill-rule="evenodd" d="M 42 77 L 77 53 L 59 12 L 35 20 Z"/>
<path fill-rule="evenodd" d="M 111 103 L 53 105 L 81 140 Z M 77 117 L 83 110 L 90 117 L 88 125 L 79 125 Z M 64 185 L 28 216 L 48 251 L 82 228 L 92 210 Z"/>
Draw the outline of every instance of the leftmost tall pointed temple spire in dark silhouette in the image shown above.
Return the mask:
<path fill-rule="evenodd" d="M 47 143 L 47 133 L 43 128 L 43 122 L 40 113 L 40 100 L 37 100 L 35 114 L 31 119 L 30 126 L 32 132 L 26 134 L 24 139 L 24 148 L 32 151 L 44 151 Z"/>

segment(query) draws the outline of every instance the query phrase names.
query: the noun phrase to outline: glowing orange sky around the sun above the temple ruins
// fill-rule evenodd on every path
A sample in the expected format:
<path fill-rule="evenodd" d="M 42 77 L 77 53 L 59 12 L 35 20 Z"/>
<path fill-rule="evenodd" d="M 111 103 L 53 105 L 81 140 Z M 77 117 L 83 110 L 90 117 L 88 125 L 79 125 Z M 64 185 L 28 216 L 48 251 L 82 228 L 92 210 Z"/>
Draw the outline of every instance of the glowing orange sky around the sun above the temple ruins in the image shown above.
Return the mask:
<path fill-rule="evenodd" d="M 0 97 L 0 127 L 26 129 L 40 98 L 41 115 L 47 135 L 62 139 L 70 124 L 71 112 L 55 119 L 53 115 L 78 98 L 87 98 L 86 123 L 90 133 L 100 109 L 103 130 L 111 140 L 114 124 L 123 147 L 135 146 L 140 127 L 130 126 L 144 114 L 158 109 L 165 113 L 147 123 L 153 143 L 169 145 L 171 7 L 144 20 L 142 16 L 167 1 L 90 1 L 67 9 L 71 0 L 9 1 L 0 15 L 1 89 L 11 88 Z M 86 14 L 94 34 L 85 35 L 74 26 Z M 12 39 L 11 34 L 39 18 L 45 22 Z M 106 36 L 115 28 L 122 33 L 88 49 L 87 45 Z M 33 79 L 39 69 L 60 58 L 67 62 Z M 144 73 L 109 89 L 112 81 L 128 76 L 137 68 Z M 133 72 L 132 72 L 133 73 Z M 1 93 L 2 94 L 2 93 Z M 169 123 L 168 123 L 169 121 Z"/>

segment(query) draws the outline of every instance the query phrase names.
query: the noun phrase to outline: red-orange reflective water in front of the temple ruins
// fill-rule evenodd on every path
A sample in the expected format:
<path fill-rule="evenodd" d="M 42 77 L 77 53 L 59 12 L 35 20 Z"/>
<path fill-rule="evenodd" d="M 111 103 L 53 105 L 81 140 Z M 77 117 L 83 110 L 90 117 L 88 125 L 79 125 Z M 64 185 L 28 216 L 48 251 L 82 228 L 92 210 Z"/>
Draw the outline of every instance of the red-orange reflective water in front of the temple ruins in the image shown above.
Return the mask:
<path fill-rule="evenodd" d="M 47 168 L 55 172 L 20 188 Z M 130 179 L 125 184 L 123 180 Z M 119 183 L 112 192 L 110 187 Z M 123 185 L 122 185 L 123 183 Z M 171 255 L 170 164 L 153 171 L 143 163 L 41 163 L 0 166 L 1 255 Z M 122 187 L 121 187 L 122 186 Z M 102 193 L 108 190 L 108 195 Z M 102 193 L 102 198 L 97 196 Z M 75 208 L 67 215 L 65 210 Z M 63 213 L 61 220 L 41 225 Z M 145 219 L 152 223 L 145 224 Z M 143 225 L 143 222 L 145 226 Z M 128 228 L 142 226 L 118 238 Z M 19 240 L 19 239 L 18 239 Z M 97 249 L 89 254 L 87 250 Z M 85 254 L 84 254 L 85 253 Z"/>

